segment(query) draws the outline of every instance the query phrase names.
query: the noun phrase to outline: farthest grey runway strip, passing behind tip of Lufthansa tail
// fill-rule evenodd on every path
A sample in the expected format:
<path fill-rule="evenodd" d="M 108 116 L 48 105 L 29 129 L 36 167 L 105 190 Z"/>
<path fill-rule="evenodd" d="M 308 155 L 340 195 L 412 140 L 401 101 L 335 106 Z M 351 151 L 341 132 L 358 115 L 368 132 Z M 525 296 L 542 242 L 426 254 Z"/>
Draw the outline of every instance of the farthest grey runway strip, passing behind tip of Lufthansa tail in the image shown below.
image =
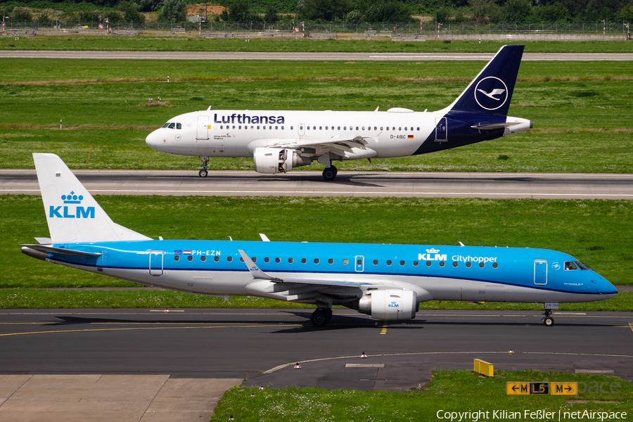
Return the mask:
<path fill-rule="evenodd" d="M 257 53 L 247 51 L 0 51 L 0 58 L 94 58 L 150 60 L 490 60 L 494 53 Z M 633 60 L 633 53 L 523 53 L 523 61 Z"/>

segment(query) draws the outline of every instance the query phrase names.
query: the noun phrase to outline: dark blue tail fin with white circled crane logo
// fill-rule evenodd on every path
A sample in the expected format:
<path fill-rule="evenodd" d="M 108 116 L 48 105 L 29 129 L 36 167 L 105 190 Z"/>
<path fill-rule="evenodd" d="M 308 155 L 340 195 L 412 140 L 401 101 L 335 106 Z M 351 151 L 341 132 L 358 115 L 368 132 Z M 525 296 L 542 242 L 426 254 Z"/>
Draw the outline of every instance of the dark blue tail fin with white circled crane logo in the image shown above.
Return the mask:
<path fill-rule="evenodd" d="M 445 111 L 508 115 L 524 46 L 503 46 Z"/>

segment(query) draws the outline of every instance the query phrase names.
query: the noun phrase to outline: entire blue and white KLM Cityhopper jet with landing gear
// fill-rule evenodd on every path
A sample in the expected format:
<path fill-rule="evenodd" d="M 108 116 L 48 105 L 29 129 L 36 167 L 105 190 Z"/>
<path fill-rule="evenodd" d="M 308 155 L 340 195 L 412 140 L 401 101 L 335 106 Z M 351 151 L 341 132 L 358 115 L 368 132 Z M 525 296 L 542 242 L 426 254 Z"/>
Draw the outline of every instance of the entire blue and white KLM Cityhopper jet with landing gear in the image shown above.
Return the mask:
<path fill-rule="evenodd" d="M 575 257 L 530 248 L 363 243 L 154 240 L 113 222 L 64 162 L 34 153 L 50 238 L 22 245 L 30 257 L 171 290 L 333 305 L 374 319 L 414 319 L 420 302 L 542 302 L 546 326 L 559 302 L 618 294 Z"/>

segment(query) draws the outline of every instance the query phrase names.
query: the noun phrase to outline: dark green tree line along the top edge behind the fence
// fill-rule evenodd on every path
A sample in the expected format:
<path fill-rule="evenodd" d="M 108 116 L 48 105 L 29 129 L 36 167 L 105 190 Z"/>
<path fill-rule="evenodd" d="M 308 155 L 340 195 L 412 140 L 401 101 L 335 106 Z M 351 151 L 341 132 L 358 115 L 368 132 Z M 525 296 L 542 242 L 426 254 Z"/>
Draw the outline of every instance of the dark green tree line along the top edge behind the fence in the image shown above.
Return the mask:
<path fill-rule="evenodd" d="M 196 4 L 200 15 L 205 15 L 205 3 Z M 407 23 L 423 17 L 438 23 L 633 21 L 633 0 L 217 0 L 215 4 L 225 7 L 221 14 L 207 17 L 217 22 Z M 4 16 L 42 24 L 58 18 L 96 22 L 106 12 L 111 23 L 143 23 L 147 13 L 157 14 L 160 22 L 184 22 L 187 6 L 186 0 L 0 0 Z M 64 11 L 61 15 L 59 9 Z"/>

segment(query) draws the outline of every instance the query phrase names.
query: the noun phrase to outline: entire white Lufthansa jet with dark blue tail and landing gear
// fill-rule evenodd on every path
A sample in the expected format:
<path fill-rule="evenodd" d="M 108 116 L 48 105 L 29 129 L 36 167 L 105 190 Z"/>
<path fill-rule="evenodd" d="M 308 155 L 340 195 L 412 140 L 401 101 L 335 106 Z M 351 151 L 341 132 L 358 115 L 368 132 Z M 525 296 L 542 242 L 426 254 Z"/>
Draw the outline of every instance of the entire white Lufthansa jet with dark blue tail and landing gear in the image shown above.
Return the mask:
<path fill-rule="evenodd" d="M 439 111 L 211 110 L 186 113 L 149 134 L 163 153 L 252 157 L 255 171 L 286 173 L 316 160 L 333 180 L 332 162 L 433 153 L 523 132 L 532 122 L 509 117 L 523 46 L 503 46 L 461 95 Z"/>

